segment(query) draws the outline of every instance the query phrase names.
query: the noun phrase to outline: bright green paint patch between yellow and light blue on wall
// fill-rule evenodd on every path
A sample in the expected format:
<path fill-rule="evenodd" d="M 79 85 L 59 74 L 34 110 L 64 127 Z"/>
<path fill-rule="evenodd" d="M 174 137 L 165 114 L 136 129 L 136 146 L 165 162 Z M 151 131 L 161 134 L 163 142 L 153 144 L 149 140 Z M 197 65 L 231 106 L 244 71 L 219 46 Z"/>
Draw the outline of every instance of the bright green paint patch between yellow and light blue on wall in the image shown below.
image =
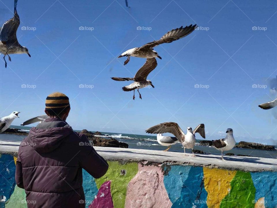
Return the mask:
<path fill-rule="evenodd" d="M 230 193 L 222 199 L 220 208 L 254 208 L 256 189 L 250 172 L 237 171 L 230 185 Z"/>

